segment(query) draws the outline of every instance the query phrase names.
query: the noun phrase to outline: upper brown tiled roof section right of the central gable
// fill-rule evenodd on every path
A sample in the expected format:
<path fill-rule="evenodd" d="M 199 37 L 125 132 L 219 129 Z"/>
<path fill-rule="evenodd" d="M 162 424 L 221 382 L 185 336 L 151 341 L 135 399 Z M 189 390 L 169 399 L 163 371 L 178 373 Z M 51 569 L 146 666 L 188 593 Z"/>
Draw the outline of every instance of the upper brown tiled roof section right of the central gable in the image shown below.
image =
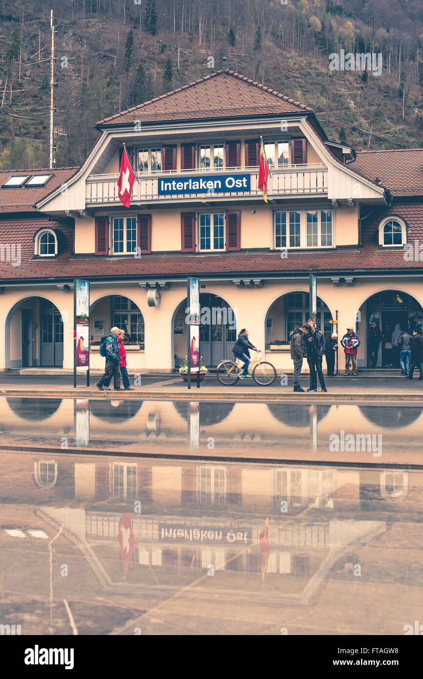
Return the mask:
<path fill-rule="evenodd" d="M 423 196 L 423 149 L 361 151 L 350 168 L 390 190 L 392 196 Z"/>

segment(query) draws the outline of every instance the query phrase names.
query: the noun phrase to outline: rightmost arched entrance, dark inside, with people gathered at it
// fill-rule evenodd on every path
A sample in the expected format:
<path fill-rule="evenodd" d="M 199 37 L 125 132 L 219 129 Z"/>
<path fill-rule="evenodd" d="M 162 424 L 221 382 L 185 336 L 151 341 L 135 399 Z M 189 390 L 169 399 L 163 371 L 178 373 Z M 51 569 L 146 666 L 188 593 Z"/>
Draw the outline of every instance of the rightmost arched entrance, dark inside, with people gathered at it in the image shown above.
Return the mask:
<path fill-rule="evenodd" d="M 401 330 L 418 327 L 422 329 L 423 308 L 420 303 L 408 293 L 401 290 L 382 290 L 371 295 L 361 306 L 357 315 L 356 332 L 361 334 L 361 344 L 364 345 L 365 357 L 358 359 L 358 365 L 370 366 L 369 347 L 367 345 L 367 333 L 371 323 L 375 321 L 384 335 L 384 340 L 379 345 L 378 361 L 376 367 L 385 365 L 392 369 L 399 369 L 399 352 L 393 346 L 385 348 L 385 342 L 392 344 L 392 333 L 399 326 Z"/>

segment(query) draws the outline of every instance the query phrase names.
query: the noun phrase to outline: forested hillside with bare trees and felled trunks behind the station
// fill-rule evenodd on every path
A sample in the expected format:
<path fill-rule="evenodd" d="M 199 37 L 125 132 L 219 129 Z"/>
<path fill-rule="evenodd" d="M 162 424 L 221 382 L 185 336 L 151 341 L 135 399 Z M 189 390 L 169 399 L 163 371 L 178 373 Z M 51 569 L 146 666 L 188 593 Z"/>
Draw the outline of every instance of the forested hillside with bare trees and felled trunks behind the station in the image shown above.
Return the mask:
<path fill-rule="evenodd" d="M 50 9 L 56 166 L 96 121 L 223 66 L 311 106 L 356 150 L 423 146 L 422 0 L 0 0 L 0 169 L 48 165 Z M 329 54 L 382 53 L 382 74 Z"/>

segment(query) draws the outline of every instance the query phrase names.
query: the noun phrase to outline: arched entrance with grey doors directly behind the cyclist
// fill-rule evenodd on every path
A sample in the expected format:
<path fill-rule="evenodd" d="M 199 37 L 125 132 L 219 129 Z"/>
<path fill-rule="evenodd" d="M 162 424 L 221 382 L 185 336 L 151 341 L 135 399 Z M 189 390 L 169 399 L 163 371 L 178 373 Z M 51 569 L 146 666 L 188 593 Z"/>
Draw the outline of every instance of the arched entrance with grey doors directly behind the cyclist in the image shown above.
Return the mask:
<path fill-rule="evenodd" d="M 186 308 L 185 297 L 172 320 L 175 367 L 182 365 L 187 355 Z M 200 310 L 200 356 L 204 365 L 214 367 L 223 359 L 232 359 L 232 347 L 236 342 L 236 316 L 227 301 L 213 293 L 200 294 Z"/>

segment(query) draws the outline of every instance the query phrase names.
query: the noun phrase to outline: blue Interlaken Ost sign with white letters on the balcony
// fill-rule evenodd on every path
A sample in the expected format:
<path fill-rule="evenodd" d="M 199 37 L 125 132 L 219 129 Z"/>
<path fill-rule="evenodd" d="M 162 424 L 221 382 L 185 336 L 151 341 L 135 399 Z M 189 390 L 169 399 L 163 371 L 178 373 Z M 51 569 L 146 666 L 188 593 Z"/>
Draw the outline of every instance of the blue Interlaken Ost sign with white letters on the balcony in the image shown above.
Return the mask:
<path fill-rule="evenodd" d="M 250 175 L 206 175 L 204 177 L 160 177 L 158 194 L 223 194 L 249 191 Z"/>

